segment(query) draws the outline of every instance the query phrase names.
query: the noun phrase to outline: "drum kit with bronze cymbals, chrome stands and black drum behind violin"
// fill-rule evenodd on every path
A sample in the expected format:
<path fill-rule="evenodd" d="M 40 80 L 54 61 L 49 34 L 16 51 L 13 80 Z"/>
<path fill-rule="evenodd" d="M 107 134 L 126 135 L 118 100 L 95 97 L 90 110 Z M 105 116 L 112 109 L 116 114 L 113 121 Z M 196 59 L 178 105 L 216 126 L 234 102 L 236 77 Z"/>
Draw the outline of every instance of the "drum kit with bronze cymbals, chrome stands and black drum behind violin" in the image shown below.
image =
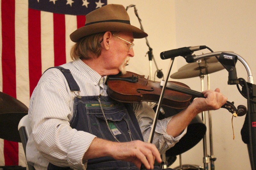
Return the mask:
<path fill-rule="evenodd" d="M 193 78 L 200 77 L 201 79 L 201 89 L 204 91 L 204 75 L 207 75 L 208 89 L 210 88 L 210 78 L 209 74 L 223 70 L 224 67 L 220 62 L 218 62 L 217 57 L 205 58 L 203 60 L 198 60 L 195 63 L 189 63 L 182 66 L 178 69 L 177 72 L 173 73 L 170 77 L 173 79 L 184 79 L 184 78 Z M 155 106 L 156 107 L 156 106 Z M 153 109 L 155 108 L 153 107 Z M 162 106 L 160 110 L 159 120 L 163 118 L 170 117 L 179 113 L 180 110 L 173 109 L 170 107 Z M 166 161 L 167 166 L 170 167 L 172 163 L 176 160 L 176 156 L 180 156 L 180 166 L 175 167 L 176 170 L 208 170 L 208 163 L 211 162 L 211 170 L 214 170 L 214 161 L 216 158 L 213 156 L 212 150 L 212 121 L 211 121 L 211 111 L 208 111 L 209 117 L 209 136 L 210 136 L 210 149 L 211 156 L 207 155 L 206 151 L 206 125 L 205 125 L 205 113 L 202 112 L 202 118 L 197 115 L 188 125 L 187 133 L 180 139 L 180 141 L 174 145 L 174 147 L 170 148 L 165 152 L 164 158 L 168 159 Z M 198 144 L 203 139 L 204 146 L 204 167 L 197 165 L 182 165 L 181 154 L 193 148 L 196 144 Z M 162 155 L 163 157 L 163 155 Z M 213 166 L 212 166 L 213 165 Z"/>

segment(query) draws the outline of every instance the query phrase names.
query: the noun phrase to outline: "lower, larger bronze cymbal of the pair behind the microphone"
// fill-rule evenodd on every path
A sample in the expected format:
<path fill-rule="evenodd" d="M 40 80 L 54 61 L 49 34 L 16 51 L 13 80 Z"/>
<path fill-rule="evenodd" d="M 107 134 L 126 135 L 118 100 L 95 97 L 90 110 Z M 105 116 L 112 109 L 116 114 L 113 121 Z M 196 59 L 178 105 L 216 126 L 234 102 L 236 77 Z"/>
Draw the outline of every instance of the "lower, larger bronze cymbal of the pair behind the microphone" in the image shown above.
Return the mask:
<path fill-rule="evenodd" d="M 196 65 L 197 64 L 197 65 Z M 181 78 L 192 78 L 200 76 L 200 74 L 210 74 L 219 70 L 224 69 L 221 63 L 196 63 L 192 67 L 183 68 L 182 70 L 173 73 L 170 77 L 175 79 Z"/>

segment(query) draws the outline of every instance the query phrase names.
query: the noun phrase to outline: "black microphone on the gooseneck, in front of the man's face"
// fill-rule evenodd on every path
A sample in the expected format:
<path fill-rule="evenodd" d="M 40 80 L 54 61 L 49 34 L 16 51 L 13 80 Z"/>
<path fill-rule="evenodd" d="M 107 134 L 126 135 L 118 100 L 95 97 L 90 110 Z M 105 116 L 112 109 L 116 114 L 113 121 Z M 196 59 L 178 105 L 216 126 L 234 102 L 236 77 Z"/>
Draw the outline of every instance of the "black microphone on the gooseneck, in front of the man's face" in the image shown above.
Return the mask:
<path fill-rule="evenodd" d="M 191 55 L 194 51 L 198 51 L 201 49 L 205 49 L 206 46 L 194 46 L 194 47 L 182 47 L 178 49 L 172 49 L 168 51 L 164 51 L 160 53 L 160 58 L 162 60 L 177 57 L 177 56 L 186 56 L 186 55 Z"/>

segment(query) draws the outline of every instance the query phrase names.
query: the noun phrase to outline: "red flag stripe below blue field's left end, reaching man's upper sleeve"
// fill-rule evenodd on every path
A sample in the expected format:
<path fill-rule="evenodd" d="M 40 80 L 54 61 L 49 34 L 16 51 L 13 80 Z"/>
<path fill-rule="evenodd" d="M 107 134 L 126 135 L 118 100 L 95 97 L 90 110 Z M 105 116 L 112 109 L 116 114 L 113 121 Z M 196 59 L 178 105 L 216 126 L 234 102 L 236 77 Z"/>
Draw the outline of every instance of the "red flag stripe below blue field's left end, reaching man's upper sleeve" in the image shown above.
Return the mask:
<path fill-rule="evenodd" d="M 28 68 L 30 96 L 42 75 L 41 12 L 28 8 Z"/>

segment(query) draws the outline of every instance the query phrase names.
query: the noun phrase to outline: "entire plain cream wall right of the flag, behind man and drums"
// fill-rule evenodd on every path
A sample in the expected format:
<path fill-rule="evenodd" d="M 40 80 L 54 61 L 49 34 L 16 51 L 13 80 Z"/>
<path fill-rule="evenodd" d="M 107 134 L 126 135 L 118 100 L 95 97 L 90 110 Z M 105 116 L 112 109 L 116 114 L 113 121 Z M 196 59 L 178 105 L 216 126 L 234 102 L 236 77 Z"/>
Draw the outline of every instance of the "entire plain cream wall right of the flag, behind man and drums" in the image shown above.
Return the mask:
<path fill-rule="evenodd" d="M 148 42 L 153 48 L 157 66 L 163 69 L 164 74 L 167 72 L 170 60 L 161 60 L 160 52 L 198 45 L 206 45 L 213 51 L 234 51 L 249 63 L 252 73 L 256 72 L 253 65 L 255 62 L 253 52 L 256 46 L 256 1 L 254 0 L 108 0 L 108 4 L 122 4 L 125 7 L 130 4 L 136 5 L 142 26 L 149 35 Z M 130 8 L 128 13 L 132 25 L 140 27 L 134 9 Z M 138 39 L 134 43 L 135 57 L 130 60 L 127 68 L 141 75 L 149 75 L 148 56 L 145 57 L 148 51 L 146 41 Z M 209 52 L 209 50 L 202 50 L 194 54 L 201 55 Z M 186 64 L 182 57 L 176 57 L 171 74 Z M 154 76 L 156 67 L 153 61 L 152 65 Z M 236 69 L 237 77 L 247 80 L 247 72 L 239 61 Z M 183 82 L 191 89 L 201 91 L 199 77 L 175 79 L 174 81 Z M 246 106 L 246 100 L 240 95 L 236 86 L 228 85 L 227 81 L 226 70 L 210 74 L 211 89 L 219 87 L 221 92 L 228 97 L 228 101 L 235 102 L 236 107 Z M 207 89 L 207 76 L 204 78 L 204 89 Z M 226 109 L 212 112 L 213 153 L 217 158 L 215 169 L 251 169 L 247 147 L 240 135 L 244 117 L 237 117 L 233 120 L 235 140 L 233 140 L 231 118 L 232 115 Z M 206 125 L 208 128 L 207 112 Z M 208 129 L 207 152 L 210 154 Z M 182 154 L 182 163 L 204 166 L 203 156 L 203 142 L 201 141 L 194 148 Z M 178 165 L 179 156 L 171 167 Z"/>

